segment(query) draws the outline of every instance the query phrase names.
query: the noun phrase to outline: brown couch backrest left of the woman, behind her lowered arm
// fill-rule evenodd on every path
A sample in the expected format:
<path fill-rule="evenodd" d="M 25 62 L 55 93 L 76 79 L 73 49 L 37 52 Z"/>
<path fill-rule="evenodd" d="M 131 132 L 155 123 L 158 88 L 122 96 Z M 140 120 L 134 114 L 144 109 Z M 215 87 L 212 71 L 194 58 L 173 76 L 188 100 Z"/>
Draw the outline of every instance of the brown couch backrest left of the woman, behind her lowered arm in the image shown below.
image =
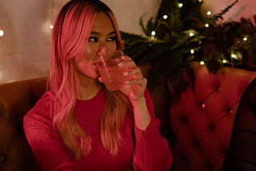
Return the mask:
<path fill-rule="evenodd" d="M 46 78 L 0 85 L 0 170 L 40 170 L 22 120 L 45 91 Z"/>

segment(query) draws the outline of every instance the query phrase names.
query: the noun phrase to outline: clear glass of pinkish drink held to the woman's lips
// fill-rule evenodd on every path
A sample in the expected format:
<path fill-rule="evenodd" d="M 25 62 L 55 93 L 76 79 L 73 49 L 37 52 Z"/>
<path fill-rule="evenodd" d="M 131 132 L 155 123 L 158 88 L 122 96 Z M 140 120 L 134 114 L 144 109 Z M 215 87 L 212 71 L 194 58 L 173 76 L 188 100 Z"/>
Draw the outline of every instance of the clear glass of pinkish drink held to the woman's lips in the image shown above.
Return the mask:
<path fill-rule="evenodd" d="M 109 90 L 118 90 L 126 85 L 129 76 L 124 76 L 123 73 L 129 71 L 128 67 L 118 66 L 122 62 L 123 52 L 116 50 L 114 52 L 106 52 L 98 55 L 94 62 L 102 76 L 102 81 Z"/>

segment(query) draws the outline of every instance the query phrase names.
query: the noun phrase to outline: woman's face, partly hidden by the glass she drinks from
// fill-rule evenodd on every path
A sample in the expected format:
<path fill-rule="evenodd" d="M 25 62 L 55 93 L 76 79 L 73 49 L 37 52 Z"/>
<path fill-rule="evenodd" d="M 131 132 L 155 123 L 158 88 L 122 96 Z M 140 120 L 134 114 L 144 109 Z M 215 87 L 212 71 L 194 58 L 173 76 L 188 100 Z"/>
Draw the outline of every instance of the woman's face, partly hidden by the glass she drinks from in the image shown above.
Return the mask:
<path fill-rule="evenodd" d="M 76 59 L 79 73 L 87 78 L 98 78 L 94 58 L 98 53 L 116 49 L 116 34 L 110 18 L 103 12 L 96 14 L 85 54 Z"/>

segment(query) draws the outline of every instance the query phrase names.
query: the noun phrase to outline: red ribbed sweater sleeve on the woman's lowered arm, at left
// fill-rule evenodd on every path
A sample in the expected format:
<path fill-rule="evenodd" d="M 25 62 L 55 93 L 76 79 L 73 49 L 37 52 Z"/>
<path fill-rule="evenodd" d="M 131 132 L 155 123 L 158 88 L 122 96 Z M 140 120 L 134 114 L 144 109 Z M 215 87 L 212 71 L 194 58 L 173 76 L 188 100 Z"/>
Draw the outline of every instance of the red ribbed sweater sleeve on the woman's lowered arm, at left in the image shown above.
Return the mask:
<path fill-rule="evenodd" d="M 46 92 L 23 118 L 26 139 L 42 170 L 78 170 L 53 128 L 54 97 Z"/>

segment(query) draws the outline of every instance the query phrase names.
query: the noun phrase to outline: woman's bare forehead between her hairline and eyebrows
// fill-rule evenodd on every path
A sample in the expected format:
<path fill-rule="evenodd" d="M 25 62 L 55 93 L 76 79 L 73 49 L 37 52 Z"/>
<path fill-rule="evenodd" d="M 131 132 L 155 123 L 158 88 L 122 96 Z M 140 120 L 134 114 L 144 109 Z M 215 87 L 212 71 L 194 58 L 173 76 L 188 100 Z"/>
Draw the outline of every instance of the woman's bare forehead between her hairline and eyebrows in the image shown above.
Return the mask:
<path fill-rule="evenodd" d="M 96 14 L 94 18 L 94 23 L 92 26 L 93 32 L 113 32 L 114 25 L 110 19 L 110 17 L 103 12 Z"/>

